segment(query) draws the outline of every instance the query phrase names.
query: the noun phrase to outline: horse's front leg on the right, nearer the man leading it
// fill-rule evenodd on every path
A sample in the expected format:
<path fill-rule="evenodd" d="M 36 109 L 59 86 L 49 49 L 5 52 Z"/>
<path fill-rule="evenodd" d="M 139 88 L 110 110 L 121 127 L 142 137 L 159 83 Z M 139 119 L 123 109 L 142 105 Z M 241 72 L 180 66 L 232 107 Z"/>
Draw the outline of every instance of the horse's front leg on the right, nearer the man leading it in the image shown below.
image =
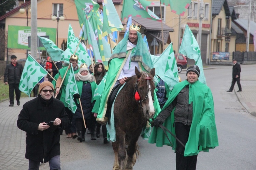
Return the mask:
<path fill-rule="evenodd" d="M 132 169 L 133 165 L 136 163 L 136 159 L 137 159 L 136 143 L 138 141 L 138 138 L 139 138 L 138 135 L 134 135 L 133 137 L 130 138 L 129 145 L 128 145 L 128 148 L 127 148 L 127 163 L 126 163 L 126 168 L 125 169 Z"/>

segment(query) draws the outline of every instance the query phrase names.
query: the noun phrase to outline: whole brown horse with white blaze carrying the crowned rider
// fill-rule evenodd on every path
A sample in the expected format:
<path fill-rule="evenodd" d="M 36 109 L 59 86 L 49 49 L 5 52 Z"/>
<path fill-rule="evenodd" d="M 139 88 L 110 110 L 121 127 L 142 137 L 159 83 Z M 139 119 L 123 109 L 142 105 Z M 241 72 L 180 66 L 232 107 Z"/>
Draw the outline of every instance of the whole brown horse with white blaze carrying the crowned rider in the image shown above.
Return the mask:
<path fill-rule="evenodd" d="M 114 103 L 114 121 L 116 141 L 112 142 L 115 153 L 113 169 L 132 169 L 137 158 L 137 141 L 147 119 L 153 118 L 155 109 L 153 77 L 155 68 L 150 74 L 139 72 L 127 79 L 123 89 L 116 96 Z M 140 99 L 137 101 L 134 93 L 138 91 Z M 138 98 L 137 98 L 138 99 Z M 126 142 L 128 144 L 126 152 Z M 126 155 L 127 153 L 127 155 Z"/>

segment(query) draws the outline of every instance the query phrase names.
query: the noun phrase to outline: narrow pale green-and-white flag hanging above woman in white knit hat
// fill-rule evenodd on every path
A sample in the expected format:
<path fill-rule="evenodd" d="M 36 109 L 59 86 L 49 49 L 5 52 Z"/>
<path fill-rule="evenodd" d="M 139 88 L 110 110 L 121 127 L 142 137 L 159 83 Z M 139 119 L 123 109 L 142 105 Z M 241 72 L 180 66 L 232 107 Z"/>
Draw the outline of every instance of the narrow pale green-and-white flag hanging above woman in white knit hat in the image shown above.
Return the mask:
<path fill-rule="evenodd" d="M 90 48 L 93 49 L 95 62 L 102 62 L 95 33 L 93 31 L 93 28 L 91 27 L 88 17 L 85 14 L 84 14 L 84 23 L 85 23 L 84 34 L 87 34 L 88 44 Z"/>

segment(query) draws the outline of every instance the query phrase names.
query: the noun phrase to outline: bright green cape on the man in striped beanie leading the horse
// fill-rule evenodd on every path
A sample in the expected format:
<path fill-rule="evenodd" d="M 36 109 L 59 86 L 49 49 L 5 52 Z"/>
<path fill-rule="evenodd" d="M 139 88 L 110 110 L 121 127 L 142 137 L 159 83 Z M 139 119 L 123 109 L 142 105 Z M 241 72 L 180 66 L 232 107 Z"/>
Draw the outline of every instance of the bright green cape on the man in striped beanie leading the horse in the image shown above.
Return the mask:
<path fill-rule="evenodd" d="M 197 155 L 199 151 L 209 152 L 209 149 L 218 146 L 218 137 L 212 93 L 209 87 L 199 80 L 195 83 L 189 83 L 187 80 L 177 83 L 171 90 L 169 98 L 162 110 L 169 106 L 179 92 L 187 85 L 189 85 L 189 102 L 193 102 L 193 118 L 188 141 L 185 145 L 184 156 L 192 156 Z M 157 115 L 154 115 L 154 118 L 156 117 Z M 163 123 L 163 126 L 175 134 L 174 127 L 172 127 L 173 123 L 174 109 Z M 176 140 L 169 133 L 167 134 L 173 145 L 170 144 L 162 129 L 156 127 L 153 127 L 148 142 L 156 143 L 156 146 L 172 146 L 174 150 L 176 148 Z"/>

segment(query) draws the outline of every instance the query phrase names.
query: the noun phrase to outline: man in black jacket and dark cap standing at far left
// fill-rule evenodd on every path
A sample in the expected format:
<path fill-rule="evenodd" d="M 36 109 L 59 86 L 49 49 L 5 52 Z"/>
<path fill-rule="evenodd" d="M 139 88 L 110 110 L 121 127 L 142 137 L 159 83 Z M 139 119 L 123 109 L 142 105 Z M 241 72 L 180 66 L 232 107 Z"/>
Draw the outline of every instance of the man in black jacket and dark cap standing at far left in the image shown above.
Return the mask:
<path fill-rule="evenodd" d="M 9 98 L 10 105 L 14 105 L 14 91 L 16 94 L 17 105 L 20 105 L 20 90 L 19 81 L 22 76 L 23 66 L 17 63 L 17 57 L 15 55 L 11 56 L 11 64 L 7 64 L 4 72 L 4 84 L 9 84 Z"/>

